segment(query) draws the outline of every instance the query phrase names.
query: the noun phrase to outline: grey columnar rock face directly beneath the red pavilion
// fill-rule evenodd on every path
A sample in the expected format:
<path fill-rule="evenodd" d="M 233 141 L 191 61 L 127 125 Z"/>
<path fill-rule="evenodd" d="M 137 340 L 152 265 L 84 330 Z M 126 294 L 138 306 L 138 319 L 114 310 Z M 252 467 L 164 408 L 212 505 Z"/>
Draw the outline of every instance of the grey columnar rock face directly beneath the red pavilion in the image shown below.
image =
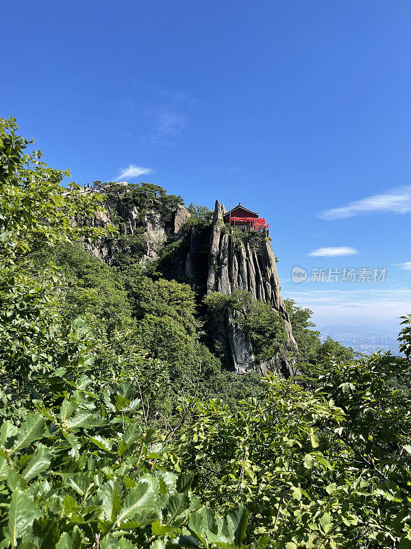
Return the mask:
<path fill-rule="evenodd" d="M 288 347 L 297 347 L 292 336 L 290 318 L 279 294 L 275 255 L 270 242 L 264 235 L 245 243 L 238 241 L 227 232 L 223 223 L 224 213 L 225 208 L 216 200 L 210 235 L 207 292 L 231 294 L 241 288 L 250 292 L 253 299 L 270 303 L 284 318 Z M 232 320 L 232 312 L 228 312 L 222 319 L 214 319 L 214 325 L 221 324 L 221 321 L 225 324 L 227 338 L 221 342 L 229 347 L 235 371 L 245 373 L 253 369 L 263 372 L 271 370 L 286 376 L 294 373 L 285 358 L 256 364 L 248 336 L 238 326 L 233 325 Z"/>

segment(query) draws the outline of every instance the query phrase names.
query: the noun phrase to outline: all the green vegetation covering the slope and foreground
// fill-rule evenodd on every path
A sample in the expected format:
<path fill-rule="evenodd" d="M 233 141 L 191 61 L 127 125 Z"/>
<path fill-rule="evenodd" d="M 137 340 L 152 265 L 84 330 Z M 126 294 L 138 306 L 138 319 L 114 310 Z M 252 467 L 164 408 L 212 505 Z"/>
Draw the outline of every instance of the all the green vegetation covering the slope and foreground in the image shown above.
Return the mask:
<path fill-rule="evenodd" d="M 410 317 L 403 358 L 356 358 L 288 302 L 304 375 L 224 371 L 192 286 L 89 255 L 101 196 L 29 143 L 1 120 L 0 548 L 411 547 Z M 271 353 L 279 317 L 229 299 Z"/>

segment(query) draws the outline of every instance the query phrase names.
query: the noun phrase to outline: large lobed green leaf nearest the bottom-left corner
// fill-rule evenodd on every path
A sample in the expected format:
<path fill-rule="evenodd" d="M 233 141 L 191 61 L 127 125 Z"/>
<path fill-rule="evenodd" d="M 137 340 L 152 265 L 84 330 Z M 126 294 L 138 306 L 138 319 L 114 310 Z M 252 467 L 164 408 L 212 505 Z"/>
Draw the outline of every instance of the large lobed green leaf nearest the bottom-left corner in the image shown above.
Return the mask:
<path fill-rule="evenodd" d="M 17 539 L 23 537 L 32 526 L 34 519 L 42 516 L 42 511 L 26 493 L 16 489 L 12 493 L 12 502 L 8 512 L 8 524 L 3 529 L 5 536 L 10 539 L 12 547 L 16 547 Z"/>

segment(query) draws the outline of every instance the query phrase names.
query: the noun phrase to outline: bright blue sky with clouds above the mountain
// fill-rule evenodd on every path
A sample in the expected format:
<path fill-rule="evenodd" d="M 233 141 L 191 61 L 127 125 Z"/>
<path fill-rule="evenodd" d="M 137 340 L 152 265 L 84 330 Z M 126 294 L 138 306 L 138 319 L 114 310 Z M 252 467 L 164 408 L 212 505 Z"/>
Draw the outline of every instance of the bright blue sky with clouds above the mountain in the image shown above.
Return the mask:
<path fill-rule="evenodd" d="M 270 223 L 284 296 L 319 325 L 395 329 L 411 312 L 410 1 L 21 0 L 2 15 L 0 114 L 50 165 L 78 183 L 128 170 L 209 207 L 228 206 L 232 173 L 233 202 Z M 314 268 L 386 277 L 319 283 Z"/>

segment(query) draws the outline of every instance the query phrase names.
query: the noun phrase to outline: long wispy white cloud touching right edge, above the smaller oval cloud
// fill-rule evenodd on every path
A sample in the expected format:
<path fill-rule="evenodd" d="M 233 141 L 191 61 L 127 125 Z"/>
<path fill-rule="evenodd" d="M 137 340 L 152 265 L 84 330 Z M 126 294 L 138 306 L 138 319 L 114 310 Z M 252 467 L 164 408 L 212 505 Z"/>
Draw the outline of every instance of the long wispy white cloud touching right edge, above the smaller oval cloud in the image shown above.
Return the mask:
<path fill-rule="evenodd" d="M 325 220 L 351 218 L 364 213 L 410 213 L 411 185 L 395 187 L 382 194 L 349 202 L 346 206 L 324 210 L 319 218 Z"/>

